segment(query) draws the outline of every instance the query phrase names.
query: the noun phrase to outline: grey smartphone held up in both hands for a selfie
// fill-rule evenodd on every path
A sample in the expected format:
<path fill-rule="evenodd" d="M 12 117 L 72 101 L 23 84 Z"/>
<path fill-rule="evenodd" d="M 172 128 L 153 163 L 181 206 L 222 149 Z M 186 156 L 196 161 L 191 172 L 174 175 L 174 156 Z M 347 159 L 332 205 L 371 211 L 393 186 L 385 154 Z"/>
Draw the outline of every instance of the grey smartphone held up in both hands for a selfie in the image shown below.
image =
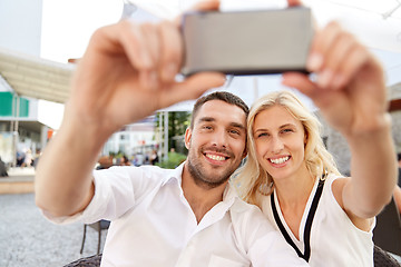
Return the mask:
<path fill-rule="evenodd" d="M 280 10 L 190 12 L 183 17 L 182 73 L 226 75 L 306 72 L 313 38 L 312 12 Z"/>

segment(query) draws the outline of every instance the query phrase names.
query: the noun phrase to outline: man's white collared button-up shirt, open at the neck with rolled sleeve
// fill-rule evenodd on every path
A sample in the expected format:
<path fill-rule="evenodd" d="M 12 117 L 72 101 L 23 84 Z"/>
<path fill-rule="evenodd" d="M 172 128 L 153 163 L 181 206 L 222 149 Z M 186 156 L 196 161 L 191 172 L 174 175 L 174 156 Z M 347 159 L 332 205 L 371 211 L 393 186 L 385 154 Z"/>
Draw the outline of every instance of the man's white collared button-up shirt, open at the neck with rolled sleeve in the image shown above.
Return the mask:
<path fill-rule="evenodd" d="M 223 201 L 197 224 L 182 190 L 184 164 L 113 167 L 94 171 L 95 196 L 71 217 L 51 221 L 111 220 L 101 266 L 307 266 L 262 211 L 228 184 Z"/>

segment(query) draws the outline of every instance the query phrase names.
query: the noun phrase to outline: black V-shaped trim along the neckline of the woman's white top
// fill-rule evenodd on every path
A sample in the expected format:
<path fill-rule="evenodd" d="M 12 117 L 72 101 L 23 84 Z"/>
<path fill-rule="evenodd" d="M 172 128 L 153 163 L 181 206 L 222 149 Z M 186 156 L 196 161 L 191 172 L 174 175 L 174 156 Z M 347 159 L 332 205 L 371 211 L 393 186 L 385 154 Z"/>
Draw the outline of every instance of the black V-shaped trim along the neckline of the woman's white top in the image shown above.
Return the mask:
<path fill-rule="evenodd" d="M 300 249 L 296 247 L 296 245 L 291 239 L 288 233 L 285 230 L 285 228 L 278 217 L 275 204 L 274 204 L 274 191 L 271 195 L 271 205 L 272 205 L 273 216 L 274 216 L 274 220 L 276 221 L 276 224 L 280 228 L 280 231 L 283 234 L 285 240 L 295 249 L 299 257 L 305 259 L 306 261 L 309 261 L 309 259 L 311 257 L 311 241 L 310 240 L 311 240 L 312 221 L 313 221 L 313 217 L 316 212 L 319 200 L 322 196 L 324 181 L 325 181 L 325 175 L 323 175 L 322 178 L 319 180 L 317 189 L 313 197 L 311 209 L 310 209 L 307 218 L 306 218 L 306 224 L 305 224 L 305 229 L 304 229 L 304 245 L 305 245 L 304 254 L 302 254 L 300 251 Z"/>

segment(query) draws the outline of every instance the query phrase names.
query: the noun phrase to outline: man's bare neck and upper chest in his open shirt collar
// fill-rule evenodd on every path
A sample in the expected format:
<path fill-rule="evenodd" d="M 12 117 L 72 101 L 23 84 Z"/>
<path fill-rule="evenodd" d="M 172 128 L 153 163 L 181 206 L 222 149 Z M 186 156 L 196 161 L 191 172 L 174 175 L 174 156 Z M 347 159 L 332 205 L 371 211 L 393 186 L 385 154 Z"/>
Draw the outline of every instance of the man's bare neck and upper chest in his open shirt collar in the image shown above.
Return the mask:
<path fill-rule="evenodd" d="M 205 214 L 223 200 L 223 192 L 227 182 L 214 188 L 196 185 L 186 168 L 187 167 L 184 166 L 182 188 L 184 196 L 187 199 L 197 222 L 199 224 Z"/>

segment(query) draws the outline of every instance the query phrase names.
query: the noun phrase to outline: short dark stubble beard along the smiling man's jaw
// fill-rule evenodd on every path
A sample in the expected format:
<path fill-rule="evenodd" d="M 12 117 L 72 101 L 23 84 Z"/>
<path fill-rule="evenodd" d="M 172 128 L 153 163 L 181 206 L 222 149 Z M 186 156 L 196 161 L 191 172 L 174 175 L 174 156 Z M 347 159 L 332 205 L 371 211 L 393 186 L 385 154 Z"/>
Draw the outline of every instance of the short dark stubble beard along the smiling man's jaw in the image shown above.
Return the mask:
<path fill-rule="evenodd" d="M 190 157 L 189 154 L 189 157 L 187 159 L 188 171 L 193 177 L 195 184 L 205 189 L 213 189 L 226 182 L 229 179 L 231 175 L 234 172 L 234 170 L 239 166 L 238 164 L 238 166 L 236 166 L 235 168 L 226 169 L 224 174 L 219 177 L 217 174 L 213 174 L 213 171 L 211 171 L 213 177 L 209 177 L 204 170 L 205 168 L 202 165 L 200 160 L 198 159 L 199 158 Z"/>

